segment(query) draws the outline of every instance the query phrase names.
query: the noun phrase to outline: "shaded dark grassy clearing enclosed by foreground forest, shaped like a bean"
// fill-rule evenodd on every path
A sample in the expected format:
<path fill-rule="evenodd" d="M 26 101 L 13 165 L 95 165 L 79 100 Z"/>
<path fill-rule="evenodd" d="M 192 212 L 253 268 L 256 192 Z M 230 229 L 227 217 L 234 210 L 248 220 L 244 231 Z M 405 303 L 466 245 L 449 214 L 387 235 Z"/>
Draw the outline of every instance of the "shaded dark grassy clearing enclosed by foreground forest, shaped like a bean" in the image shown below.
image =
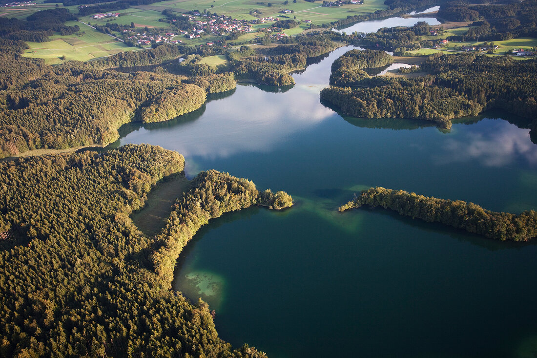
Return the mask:
<path fill-rule="evenodd" d="M 149 193 L 146 206 L 132 215 L 134 224 L 149 237 L 156 235 L 170 216 L 175 199 L 188 189 L 190 182 L 183 175 L 174 175 L 168 181 L 158 183 Z"/>

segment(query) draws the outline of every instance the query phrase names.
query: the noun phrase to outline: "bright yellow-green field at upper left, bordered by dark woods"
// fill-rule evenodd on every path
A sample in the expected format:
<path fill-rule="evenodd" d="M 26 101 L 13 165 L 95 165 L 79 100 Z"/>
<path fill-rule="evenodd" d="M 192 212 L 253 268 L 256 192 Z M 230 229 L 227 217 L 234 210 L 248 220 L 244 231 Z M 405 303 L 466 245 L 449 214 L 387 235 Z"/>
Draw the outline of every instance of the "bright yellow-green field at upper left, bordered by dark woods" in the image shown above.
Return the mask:
<path fill-rule="evenodd" d="M 126 46 L 123 42 L 116 41 L 112 37 L 93 30 L 91 27 L 78 23 L 67 22 L 67 25 L 80 26 L 80 36 L 54 35 L 52 41 L 27 42 L 30 49 L 24 51 L 23 56 L 30 58 L 45 59 L 45 62 L 54 65 L 62 63 L 61 56 L 66 56 L 65 61 L 88 61 L 103 56 L 109 56 L 124 51 L 135 51 L 139 48 Z"/>

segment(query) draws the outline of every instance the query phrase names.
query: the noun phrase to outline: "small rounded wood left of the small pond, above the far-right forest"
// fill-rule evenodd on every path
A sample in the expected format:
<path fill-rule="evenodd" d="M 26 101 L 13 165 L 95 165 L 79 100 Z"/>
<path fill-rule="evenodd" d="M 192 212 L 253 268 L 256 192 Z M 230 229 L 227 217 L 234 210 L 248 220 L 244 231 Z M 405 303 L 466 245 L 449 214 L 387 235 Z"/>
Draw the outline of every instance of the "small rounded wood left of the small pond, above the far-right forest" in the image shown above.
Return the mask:
<path fill-rule="evenodd" d="M 364 69 L 390 65 L 393 57 L 384 51 L 352 49 L 332 62 L 330 84 L 340 87 L 358 85 L 369 76 Z"/>

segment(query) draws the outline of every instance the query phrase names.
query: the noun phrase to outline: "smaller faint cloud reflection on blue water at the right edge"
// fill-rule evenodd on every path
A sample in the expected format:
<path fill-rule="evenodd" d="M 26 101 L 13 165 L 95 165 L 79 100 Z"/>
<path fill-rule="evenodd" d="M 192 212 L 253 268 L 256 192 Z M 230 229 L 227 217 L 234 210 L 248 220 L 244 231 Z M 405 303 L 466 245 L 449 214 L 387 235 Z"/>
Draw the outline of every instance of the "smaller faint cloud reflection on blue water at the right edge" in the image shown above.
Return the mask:
<path fill-rule="evenodd" d="M 537 166 L 537 146 L 529 140 L 529 130 L 500 120 L 491 127 L 491 131 L 472 131 L 461 138 L 447 139 L 446 153 L 438 159 L 444 163 L 478 160 L 484 166 L 501 167 L 521 158 Z"/>

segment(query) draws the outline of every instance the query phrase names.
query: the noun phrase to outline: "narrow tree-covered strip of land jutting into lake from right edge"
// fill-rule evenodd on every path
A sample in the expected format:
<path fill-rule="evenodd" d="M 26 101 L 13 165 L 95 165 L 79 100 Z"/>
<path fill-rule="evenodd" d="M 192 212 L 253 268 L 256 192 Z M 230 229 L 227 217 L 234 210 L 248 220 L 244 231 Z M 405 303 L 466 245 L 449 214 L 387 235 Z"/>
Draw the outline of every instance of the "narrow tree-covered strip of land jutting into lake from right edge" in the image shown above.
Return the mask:
<path fill-rule="evenodd" d="M 401 215 L 442 223 L 496 240 L 528 241 L 537 237 L 537 212 L 519 215 L 494 212 L 474 203 L 451 201 L 409 193 L 403 190 L 371 188 L 343 206 L 345 211 L 361 205 L 382 206 Z"/>

